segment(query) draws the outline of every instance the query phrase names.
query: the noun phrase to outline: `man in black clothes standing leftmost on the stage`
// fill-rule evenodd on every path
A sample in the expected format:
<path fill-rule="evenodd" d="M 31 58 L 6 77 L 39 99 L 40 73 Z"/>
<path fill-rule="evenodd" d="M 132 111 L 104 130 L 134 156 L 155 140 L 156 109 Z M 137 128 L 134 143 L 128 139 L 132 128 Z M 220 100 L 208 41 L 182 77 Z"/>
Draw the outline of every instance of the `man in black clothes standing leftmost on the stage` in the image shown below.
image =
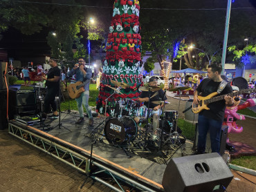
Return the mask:
<path fill-rule="evenodd" d="M 45 119 L 50 105 L 53 108 L 53 115 L 51 115 L 51 117 L 59 117 L 55 97 L 60 91 L 60 68 L 57 66 L 57 61 L 55 59 L 50 59 L 49 64 L 51 68 L 47 73 L 47 77 L 45 74 L 42 76 L 42 79 L 46 80 L 47 86 L 46 97 L 44 98 L 44 113 L 42 114 L 42 117 Z"/>

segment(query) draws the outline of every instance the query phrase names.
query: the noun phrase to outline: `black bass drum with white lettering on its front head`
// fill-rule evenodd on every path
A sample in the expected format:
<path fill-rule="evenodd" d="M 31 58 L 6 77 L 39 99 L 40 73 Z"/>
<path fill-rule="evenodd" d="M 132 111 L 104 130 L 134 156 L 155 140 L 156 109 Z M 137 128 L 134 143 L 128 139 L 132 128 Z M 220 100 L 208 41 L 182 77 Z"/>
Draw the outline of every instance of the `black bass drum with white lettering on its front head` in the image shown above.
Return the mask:
<path fill-rule="evenodd" d="M 134 140 L 138 132 L 137 124 L 131 117 L 109 119 L 104 126 L 104 134 L 109 143 L 122 144 Z"/>

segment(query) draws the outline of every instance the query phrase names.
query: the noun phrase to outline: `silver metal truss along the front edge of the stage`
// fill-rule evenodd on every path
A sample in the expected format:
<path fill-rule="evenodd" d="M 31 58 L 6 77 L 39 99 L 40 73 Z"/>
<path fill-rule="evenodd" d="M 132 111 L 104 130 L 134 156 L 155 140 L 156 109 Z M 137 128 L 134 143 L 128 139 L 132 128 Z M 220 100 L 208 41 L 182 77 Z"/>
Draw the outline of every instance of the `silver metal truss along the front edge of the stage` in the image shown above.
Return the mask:
<path fill-rule="evenodd" d="M 91 151 L 86 151 L 84 148 L 75 146 L 74 144 L 60 140 L 60 138 L 40 131 L 32 126 L 26 126 L 20 124 L 15 120 L 9 122 L 8 131 L 11 135 L 23 140 L 24 142 L 35 146 L 41 151 L 55 157 L 57 160 L 72 166 L 77 171 L 84 173 L 84 175 L 90 175 L 94 180 L 109 186 L 109 188 L 114 191 L 125 191 L 120 183 L 125 182 L 133 189 L 137 191 L 164 191 L 163 186 L 152 180 L 143 177 L 129 169 L 110 162 L 109 160 L 104 160 L 104 158 L 93 154 L 91 164 L 96 167 L 98 171 L 90 170 L 90 153 Z M 113 186 L 109 182 L 102 180 L 99 177 L 100 173 L 107 173 L 113 177 L 119 188 Z"/>

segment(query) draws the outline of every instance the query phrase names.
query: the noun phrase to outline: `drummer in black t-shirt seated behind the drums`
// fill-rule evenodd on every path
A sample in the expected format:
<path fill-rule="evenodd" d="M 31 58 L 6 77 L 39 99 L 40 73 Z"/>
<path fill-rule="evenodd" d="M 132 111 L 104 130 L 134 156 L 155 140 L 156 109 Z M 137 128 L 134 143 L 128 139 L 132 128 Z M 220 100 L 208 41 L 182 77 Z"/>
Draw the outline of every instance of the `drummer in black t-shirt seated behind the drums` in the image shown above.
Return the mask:
<path fill-rule="evenodd" d="M 149 88 L 151 86 L 157 86 L 157 79 L 155 77 L 151 77 L 149 79 Z M 149 89 L 150 90 L 150 89 Z M 150 99 L 149 99 L 150 97 Z M 159 116 L 162 114 L 161 107 L 163 103 L 154 104 L 155 101 L 165 101 L 167 98 L 165 97 L 165 93 L 162 89 L 156 91 L 143 91 L 138 97 L 140 103 L 144 102 L 144 106 L 142 108 L 149 107 L 152 108 L 152 116 L 153 116 L 153 134 L 152 140 L 156 140 L 157 137 L 157 128 L 159 128 Z M 150 113 L 149 113 L 150 114 Z M 151 115 L 150 115 L 151 116 Z"/>

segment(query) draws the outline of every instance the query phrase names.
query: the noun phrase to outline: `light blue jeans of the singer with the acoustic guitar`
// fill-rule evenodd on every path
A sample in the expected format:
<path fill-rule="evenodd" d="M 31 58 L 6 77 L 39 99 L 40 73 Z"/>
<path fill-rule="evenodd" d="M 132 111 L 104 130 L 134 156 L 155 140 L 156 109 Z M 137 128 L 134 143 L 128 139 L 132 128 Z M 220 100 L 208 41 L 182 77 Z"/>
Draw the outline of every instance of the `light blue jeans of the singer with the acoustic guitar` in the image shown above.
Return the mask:
<path fill-rule="evenodd" d="M 77 102 L 78 111 L 80 114 L 80 117 L 84 117 L 84 108 L 86 109 L 86 112 L 89 116 L 89 118 L 92 118 L 93 115 L 91 115 L 91 108 L 89 106 L 89 90 L 85 90 L 80 97 L 75 99 Z M 84 104 L 84 108 L 82 108 L 82 104 Z"/>

